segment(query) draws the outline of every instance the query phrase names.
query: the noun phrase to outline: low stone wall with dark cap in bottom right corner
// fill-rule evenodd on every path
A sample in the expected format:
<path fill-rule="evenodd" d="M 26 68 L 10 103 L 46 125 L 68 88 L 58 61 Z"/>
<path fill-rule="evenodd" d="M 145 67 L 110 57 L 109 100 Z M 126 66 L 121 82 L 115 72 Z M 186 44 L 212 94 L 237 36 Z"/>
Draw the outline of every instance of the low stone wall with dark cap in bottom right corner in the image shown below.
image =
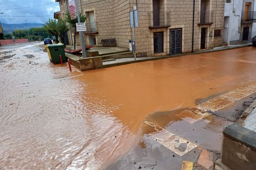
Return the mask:
<path fill-rule="evenodd" d="M 215 170 L 254 170 L 256 168 L 256 132 L 238 124 L 223 131 L 222 157 Z"/>

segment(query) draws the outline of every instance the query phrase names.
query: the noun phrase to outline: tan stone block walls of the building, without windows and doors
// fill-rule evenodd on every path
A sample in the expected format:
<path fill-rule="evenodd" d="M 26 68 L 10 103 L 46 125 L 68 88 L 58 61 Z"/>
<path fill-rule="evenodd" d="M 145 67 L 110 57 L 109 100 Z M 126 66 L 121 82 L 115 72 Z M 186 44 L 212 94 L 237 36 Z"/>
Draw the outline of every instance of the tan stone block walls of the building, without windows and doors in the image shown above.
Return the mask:
<path fill-rule="evenodd" d="M 169 12 L 171 26 L 168 28 L 150 29 L 152 22 L 150 13 L 153 11 L 152 0 L 137 0 L 139 11 L 139 28 L 135 28 L 136 54 L 142 56 L 169 55 L 170 29 L 182 29 L 182 53 L 192 51 L 192 20 L 193 0 L 160 0 L 161 12 Z M 213 11 L 213 24 L 198 25 L 200 21 L 200 0 L 195 1 L 194 23 L 194 51 L 200 51 L 201 28 L 207 28 L 206 49 L 222 45 L 221 37 L 214 38 L 214 29 L 223 29 L 223 0 L 208 0 L 207 9 Z M 85 15 L 94 11 L 97 27 L 97 45 L 101 46 L 101 40 L 115 38 L 117 46 L 129 47 L 128 41 L 132 39 L 129 12 L 136 4 L 136 0 L 81 0 L 82 12 Z M 164 52 L 154 54 L 154 32 L 164 32 Z M 70 37 L 70 36 L 69 36 Z M 85 35 L 86 44 L 89 45 L 89 35 Z M 71 42 L 71 41 L 70 41 Z M 79 44 L 80 42 L 77 42 Z"/>

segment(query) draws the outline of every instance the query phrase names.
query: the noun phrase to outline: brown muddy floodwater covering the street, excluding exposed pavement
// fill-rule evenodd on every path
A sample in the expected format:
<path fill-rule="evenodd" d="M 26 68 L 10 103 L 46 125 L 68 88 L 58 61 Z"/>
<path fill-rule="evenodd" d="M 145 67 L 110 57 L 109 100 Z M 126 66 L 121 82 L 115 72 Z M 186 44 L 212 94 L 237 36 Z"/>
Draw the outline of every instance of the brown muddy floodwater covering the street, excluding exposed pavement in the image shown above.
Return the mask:
<path fill-rule="evenodd" d="M 256 81 L 253 47 L 70 73 L 39 44 L 0 47 L 0 169 L 102 169 L 149 114 Z"/>

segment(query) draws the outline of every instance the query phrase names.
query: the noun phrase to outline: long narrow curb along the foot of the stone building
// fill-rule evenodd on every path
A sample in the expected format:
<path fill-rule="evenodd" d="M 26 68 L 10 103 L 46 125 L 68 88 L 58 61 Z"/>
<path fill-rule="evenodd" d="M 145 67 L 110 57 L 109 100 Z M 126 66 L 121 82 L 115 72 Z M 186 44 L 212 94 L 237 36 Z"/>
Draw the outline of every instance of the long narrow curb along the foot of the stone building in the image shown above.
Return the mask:
<path fill-rule="evenodd" d="M 147 59 L 142 59 L 142 60 L 125 61 L 125 62 L 120 62 L 120 63 L 112 63 L 112 64 L 106 64 L 106 65 L 102 65 L 102 66 L 96 66 L 95 69 L 103 69 L 103 68 L 107 68 L 107 67 L 120 66 L 120 65 L 145 62 L 145 61 L 162 60 L 162 59 L 167 59 L 167 58 L 181 57 L 181 56 L 193 55 L 193 54 L 204 54 L 204 53 L 218 52 L 218 51 L 224 51 L 224 50 L 233 50 L 233 49 L 237 49 L 237 48 L 250 47 L 250 46 L 252 46 L 252 44 L 244 44 L 244 45 L 239 45 L 239 46 L 234 46 L 234 47 L 224 47 L 224 48 L 220 48 L 220 49 L 203 50 L 203 51 L 199 51 L 199 52 L 195 52 L 195 53 L 178 54 L 178 55 L 172 55 L 172 56 L 162 56 L 162 57 L 154 57 L 154 58 L 148 57 Z"/>

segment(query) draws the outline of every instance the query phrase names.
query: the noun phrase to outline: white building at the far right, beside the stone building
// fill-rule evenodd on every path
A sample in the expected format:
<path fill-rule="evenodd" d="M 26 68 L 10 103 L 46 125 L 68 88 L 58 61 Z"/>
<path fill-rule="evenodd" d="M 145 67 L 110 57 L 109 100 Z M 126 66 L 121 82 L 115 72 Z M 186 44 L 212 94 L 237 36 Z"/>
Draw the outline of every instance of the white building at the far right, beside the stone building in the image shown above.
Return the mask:
<path fill-rule="evenodd" d="M 255 0 L 225 0 L 223 43 L 246 44 L 256 36 Z"/>

